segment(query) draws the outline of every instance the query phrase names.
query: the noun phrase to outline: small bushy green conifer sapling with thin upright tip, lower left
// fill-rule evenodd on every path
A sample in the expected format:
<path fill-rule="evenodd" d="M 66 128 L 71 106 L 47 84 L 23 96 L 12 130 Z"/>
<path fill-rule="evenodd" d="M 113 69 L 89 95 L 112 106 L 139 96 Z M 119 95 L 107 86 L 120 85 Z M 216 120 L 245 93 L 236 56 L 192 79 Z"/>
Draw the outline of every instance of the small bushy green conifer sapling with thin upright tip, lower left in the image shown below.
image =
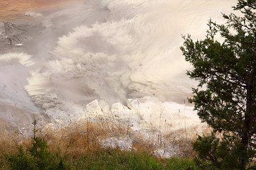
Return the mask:
<path fill-rule="evenodd" d="M 9 168 L 13 170 L 70 169 L 69 164 L 60 156 L 60 152 L 52 154 L 48 151 L 47 141 L 43 137 L 36 136 L 36 121 L 33 122 L 33 125 L 32 146 L 28 147 L 26 151 L 23 147 L 17 146 L 17 154 L 5 155 Z"/>

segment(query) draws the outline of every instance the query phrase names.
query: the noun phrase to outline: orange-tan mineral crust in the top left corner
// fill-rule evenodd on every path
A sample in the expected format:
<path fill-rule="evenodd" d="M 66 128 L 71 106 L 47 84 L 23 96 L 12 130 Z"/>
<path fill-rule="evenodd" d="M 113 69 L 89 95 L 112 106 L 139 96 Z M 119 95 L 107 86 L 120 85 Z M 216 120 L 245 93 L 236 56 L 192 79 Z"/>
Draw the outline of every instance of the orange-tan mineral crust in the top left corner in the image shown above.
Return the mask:
<path fill-rule="evenodd" d="M 0 21 L 23 18 L 28 11 L 43 11 L 68 3 L 74 0 L 0 0 Z"/>

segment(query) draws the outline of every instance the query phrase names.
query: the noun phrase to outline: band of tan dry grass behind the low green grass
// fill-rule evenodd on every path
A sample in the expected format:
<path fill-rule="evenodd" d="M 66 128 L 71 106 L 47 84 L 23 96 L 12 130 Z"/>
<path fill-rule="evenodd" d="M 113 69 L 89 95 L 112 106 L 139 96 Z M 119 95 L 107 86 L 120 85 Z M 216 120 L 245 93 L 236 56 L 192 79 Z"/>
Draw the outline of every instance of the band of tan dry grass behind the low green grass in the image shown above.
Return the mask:
<path fill-rule="evenodd" d="M 30 127 L 32 128 L 32 127 Z M 33 136 L 32 129 L 30 136 Z M 204 130 L 208 132 L 208 130 Z M 206 133 L 204 132 L 204 133 Z M 145 133 L 134 132 L 130 126 L 123 125 L 118 121 L 112 121 L 110 118 L 87 118 L 87 120 L 70 123 L 69 125 L 56 128 L 54 125 L 45 125 L 38 128 L 37 135 L 44 137 L 48 141 L 48 147 L 51 152 L 58 152 L 69 160 L 93 154 L 103 147 L 120 147 L 118 142 L 130 141 L 129 147 L 135 151 L 148 152 L 159 157 L 165 157 L 166 153 L 171 153 L 170 157 L 194 157 L 191 142 L 194 137 L 185 138 L 184 132 L 173 132 L 172 134 L 162 135 L 160 132 L 151 132 L 148 138 Z M 177 135 L 178 134 L 178 135 Z M 183 134 L 183 135 L 179 135 Z M 181 137 L 182 136 L 182 137 Z M 113 141 L 109 139 L 114 139 Z M 113 145 L 104 145 L 104 142 L 114 143 Z M 17 152 L 16 146 L 26 146 L 31 144 L 30 137 L 24 137 L 22 134 L 4 130 L 0 136 L 0 152 L 2 154 L 13 154 Z M 121 148 L 122 149 L 122 148 Z M 157 150 L 162 149 L 162 154 L 157 154 Z M 0 169 L 5 169 L 6 165 L 3 158 L 0 158 Z"/>

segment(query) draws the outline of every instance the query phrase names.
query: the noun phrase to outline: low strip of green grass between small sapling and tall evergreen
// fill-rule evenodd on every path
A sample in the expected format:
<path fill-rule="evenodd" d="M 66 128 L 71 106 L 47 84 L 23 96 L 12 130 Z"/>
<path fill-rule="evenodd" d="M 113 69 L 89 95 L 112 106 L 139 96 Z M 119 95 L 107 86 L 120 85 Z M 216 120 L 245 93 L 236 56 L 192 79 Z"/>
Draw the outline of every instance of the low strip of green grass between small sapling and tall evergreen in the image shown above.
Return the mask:
<path fill-rule="evenodd" d="M 94 154 L 80 157 L 74 162 L 74 169 L 167 169 L 196 170 L 191 159 L 157 159 L 146 152 L 101 149 Z"/>

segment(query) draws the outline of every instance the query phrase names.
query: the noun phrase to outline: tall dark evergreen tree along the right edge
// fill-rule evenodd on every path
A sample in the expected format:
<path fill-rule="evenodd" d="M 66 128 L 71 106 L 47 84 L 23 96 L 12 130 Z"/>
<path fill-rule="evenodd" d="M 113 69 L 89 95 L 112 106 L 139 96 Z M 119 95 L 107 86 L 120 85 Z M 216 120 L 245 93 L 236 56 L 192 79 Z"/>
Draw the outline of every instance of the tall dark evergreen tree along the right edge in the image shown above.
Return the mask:
<path fill-rule="evenodd" d="M 189 99 L 212 129 L 193 143 L 203 169 L 256 169 L 256 0 L 238 0 L 239 15 L 208 23 L 204 40 L 184 36 L 181 47 L 199 81 Z M 216 35 L 221 38 L 216 40 Z"/>

